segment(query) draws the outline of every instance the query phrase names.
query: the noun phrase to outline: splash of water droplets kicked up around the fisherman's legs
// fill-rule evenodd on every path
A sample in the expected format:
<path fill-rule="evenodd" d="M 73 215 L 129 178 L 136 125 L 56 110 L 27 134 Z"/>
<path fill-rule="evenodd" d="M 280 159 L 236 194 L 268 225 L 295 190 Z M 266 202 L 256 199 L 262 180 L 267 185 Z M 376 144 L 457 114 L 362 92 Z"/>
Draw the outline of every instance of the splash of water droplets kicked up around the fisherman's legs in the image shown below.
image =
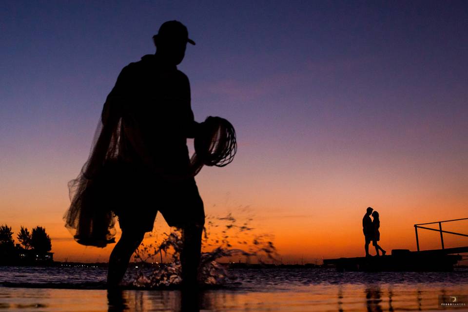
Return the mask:
<path fill-rule="evenodd" d="M 198 280 L 203 285 L 225 285 L 234 281 L 227 267 L 220 261 L 234 256 L 243 256 L 246 263 L 266 261 L 274 262 L 278 256 L 273 245 L 273 236 L 254 235 L 249 218 L 238 225 L 238 221 L 229 214 L 224 217 L 207 217 L 202 237 L 202 254 L 198 268 Z M 164 239 L 157 247 L 156 242 L 141 244 L 135 253 L 135 259 L 150 262 L 159 253 L 170 255 L 171 262 L 159 264 L 151 273 L 141 271 L 133 281 L 133 286 L 144 288 L 173 287 L 182 281 L 179 256 L 182 251 L 182 232 L 176 228 L 164 233 Z M 233 239 L 243 248 L 233 248 Z M 264 261 L 263 259 L 267 259 Z"/>

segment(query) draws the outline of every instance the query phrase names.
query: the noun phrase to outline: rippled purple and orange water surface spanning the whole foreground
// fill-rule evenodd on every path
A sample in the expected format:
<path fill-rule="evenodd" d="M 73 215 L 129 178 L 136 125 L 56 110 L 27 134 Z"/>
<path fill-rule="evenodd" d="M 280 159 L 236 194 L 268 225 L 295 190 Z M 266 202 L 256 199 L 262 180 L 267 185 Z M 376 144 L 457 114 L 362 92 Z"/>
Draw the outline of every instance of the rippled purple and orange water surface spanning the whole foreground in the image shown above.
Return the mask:
<path fill-rule="evenodd" d="M 0 267 L 0 311 L 439 311 L 439 295 L 468 294 L 464 269 L 230 269 L 228 282 L 197 294 L 135 289 L 142 272 L 131 268 L 127 289 L 108 292 L 105 268 Z"/>

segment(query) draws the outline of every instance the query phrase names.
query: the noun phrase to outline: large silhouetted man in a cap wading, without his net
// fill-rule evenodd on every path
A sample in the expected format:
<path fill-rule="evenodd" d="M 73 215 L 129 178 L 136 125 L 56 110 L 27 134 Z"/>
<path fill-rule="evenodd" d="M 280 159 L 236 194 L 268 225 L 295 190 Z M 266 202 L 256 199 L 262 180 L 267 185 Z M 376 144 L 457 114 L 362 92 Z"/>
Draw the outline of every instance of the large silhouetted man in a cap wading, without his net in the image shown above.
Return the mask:
<path fill-rule="evenodd" d="M 102 112 L 103 123 L 109 116 L 121 117 L 122 134 L 114 139 L 120 140 L 116 153 L 125 155 L 106 169 L 107 184 L 112 185 L 109 197 L 116 201 L 112 205 L 122 229 L 109 259 L 107 282 L 120 283 L 160 211 L 170 226 L 182 229 L 182 283 L 194 287 L 205 213 L 189 173 L 186 143 L 199 124 L 190 105 L 189 80 L 176 65 L 185 56 L 187 42 L 195 42 L 176 20 L 163 23 L 153 39 L 156 54 L 122 69 Z"/>

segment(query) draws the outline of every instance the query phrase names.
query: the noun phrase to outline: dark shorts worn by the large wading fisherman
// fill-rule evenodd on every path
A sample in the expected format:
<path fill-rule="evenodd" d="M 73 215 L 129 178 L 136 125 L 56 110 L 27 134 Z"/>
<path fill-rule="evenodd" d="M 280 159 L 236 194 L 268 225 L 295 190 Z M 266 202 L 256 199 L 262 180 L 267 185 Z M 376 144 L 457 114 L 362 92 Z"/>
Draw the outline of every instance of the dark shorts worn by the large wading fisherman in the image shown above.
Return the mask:
<path fill-rule="evenodd" d="M 134 169 L 119 169 L 109 176 L 114 181 L 107 194 L 113 198 L 112 210 L 122 231 L 153 231 L 158 211 L 172 227 L 204 225 L 203 201 L 194 177 L 168 181 Z"/>

